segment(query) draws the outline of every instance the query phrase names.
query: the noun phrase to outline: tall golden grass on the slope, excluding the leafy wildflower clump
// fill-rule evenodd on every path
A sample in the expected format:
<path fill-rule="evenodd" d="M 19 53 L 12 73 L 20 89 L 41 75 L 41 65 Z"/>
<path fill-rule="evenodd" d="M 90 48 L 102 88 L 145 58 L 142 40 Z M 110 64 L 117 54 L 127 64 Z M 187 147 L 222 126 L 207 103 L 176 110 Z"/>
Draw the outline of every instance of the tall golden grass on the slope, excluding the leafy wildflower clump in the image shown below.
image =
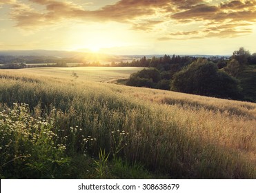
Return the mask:
<path fill-rule="evenodd" d="M 10 109 L 27 103 L 34 116 L 55 120 L 52 127 L 67 138 L 67 156 L 97 156 L 101 148 L 111 152 L 109 159 L 119 156 L 175 178 L 256 177 L 255 103 L 14 73 L 0 77 L 0 102 Z"/>

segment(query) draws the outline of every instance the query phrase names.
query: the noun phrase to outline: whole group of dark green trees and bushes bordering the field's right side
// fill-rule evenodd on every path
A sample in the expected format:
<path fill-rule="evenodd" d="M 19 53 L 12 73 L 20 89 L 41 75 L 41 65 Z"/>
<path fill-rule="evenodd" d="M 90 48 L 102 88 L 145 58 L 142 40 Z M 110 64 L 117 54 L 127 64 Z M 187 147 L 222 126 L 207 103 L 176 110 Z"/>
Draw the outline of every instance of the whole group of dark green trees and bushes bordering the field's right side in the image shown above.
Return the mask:
<path fill-rule="evenodd" d="M 164 57 L 139 62 L 148 69 L 131 74 L 126 85 L 173 90 L 224 99 L 244 99 L 239 74 L 256 64 L 256 53 L 239 48 L 230 58 Z"/>

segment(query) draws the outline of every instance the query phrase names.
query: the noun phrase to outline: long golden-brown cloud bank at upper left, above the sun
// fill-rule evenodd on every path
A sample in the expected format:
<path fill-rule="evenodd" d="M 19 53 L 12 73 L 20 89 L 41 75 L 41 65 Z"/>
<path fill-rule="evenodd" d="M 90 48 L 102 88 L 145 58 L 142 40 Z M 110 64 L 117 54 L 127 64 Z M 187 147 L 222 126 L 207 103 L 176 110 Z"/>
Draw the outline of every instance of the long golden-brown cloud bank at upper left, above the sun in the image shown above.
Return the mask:
<path fill-rule="evenodd" d="M 54 0 L 30 0 L 45 7 L 45 12 L 37 10 L 23 10 L 12 12 L 12 19 L 16 21 L 19 28 L 37 28 L 58 23 L 66 19 L 80 19 L 82 21 L 117 21 L 130 23 L 134 29 L 142 29 L 141 23 L 135 23 L 139 17 L 151 17 L 156 15 L 157 9 L 168 8 L 168 0 L 121 0 L 113 5 L 104 6 L 99 10 L 85 10 L 70 1 Z M 19 6 L 19 3 L 13 6 Z M 155 22 L 157 23 L 157 22 Z M 152 26 L 152 22 L 147 23 Z M 148 26 L 147 29 L 150 27 Z M 145 28 L 146 29 L 146 28 Z"/>

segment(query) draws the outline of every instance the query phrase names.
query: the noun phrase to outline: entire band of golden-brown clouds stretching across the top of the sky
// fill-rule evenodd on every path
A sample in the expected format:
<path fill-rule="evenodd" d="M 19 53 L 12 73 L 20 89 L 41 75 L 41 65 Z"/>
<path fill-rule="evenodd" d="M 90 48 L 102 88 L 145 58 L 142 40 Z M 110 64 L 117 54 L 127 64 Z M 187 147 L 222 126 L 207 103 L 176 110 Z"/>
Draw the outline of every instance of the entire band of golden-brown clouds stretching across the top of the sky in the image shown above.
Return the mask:
<path fill-rule="evenodd" d="M 256 1 L 224 1 L 216 4 L 203 0 L 121 0 L 98 10 L 86 10 L 72 1 L 3 0 L 12 5 L 10 17 L 16 27 L 32 30 L 67 19 L 128 23 L 132 30 L 154 31 L 168 23 L 201 23 L 200 28 L 179 30 L 166 26 L 160 40 L 204 37 L 237 37 L 250 33 L 256 22 Z M 36 10 L 32 4 L 41 6 Z"/>

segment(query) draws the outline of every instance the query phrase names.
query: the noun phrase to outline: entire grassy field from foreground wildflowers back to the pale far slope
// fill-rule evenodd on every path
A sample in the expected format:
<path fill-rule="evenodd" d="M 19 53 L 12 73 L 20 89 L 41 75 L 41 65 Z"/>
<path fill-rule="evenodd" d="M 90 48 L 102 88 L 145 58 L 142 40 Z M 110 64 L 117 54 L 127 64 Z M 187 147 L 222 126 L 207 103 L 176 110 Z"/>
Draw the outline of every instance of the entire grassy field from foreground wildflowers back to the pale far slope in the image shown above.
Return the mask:
<path fill-rule="evenodd" d="M 119 78 L 101 72 L 0 71 L 1 178 L 256 178 L 255 103 L 100 83 Z"/>

